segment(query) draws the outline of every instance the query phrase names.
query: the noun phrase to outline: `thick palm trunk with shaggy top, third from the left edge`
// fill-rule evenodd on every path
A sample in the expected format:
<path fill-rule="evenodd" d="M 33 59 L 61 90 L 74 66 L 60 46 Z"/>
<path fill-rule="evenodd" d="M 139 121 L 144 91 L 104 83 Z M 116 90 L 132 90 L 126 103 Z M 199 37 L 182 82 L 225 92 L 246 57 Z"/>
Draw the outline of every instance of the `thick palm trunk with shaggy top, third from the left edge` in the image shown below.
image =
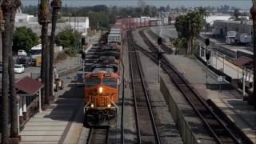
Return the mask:
<path fill-rule="evenodd" d="M 47 63 L 46 63 L 46 52 L 48 51 L 48 24 L 50 23 L 50 13 L 49 13 L 49 6 L 48 0 L 41 0 L 40 3 L 40 11 L 38 14 L 38 22 L 42 25 L 42 66 L 41 66 L 41 78 L 42 83 L 45 85 L 42 88 L 42 106 L 45 107 L 45 104 L 49 104 L 49 98 L 46 92 L 47 87 L 47 77 L 46 77 L 46 70 L 47 70 Z M 49 78 L 48 78 L 49 79 Z M 49 89 L 48 89 L 49 90 Z"/>

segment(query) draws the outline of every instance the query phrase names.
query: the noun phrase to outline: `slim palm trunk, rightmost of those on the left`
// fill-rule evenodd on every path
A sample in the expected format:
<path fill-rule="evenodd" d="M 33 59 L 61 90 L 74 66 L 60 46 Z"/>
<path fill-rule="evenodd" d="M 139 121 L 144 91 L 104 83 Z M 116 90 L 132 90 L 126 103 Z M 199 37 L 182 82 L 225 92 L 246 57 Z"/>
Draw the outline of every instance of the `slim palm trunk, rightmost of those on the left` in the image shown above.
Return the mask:
<path fill-rule="evenodd" d="M 53 87 L 54 87 L 54 42 L 55 42 L 55 30 L 56 23 L 58 20 L 58 13 L 62 6 L 61 0 L 53 0 L 51 2 L 51 6 L 53 7 L 52 12 L 52 27 L 51 27 L 51 35 L 50 35 L 50 97 L 53 97 Z"/>

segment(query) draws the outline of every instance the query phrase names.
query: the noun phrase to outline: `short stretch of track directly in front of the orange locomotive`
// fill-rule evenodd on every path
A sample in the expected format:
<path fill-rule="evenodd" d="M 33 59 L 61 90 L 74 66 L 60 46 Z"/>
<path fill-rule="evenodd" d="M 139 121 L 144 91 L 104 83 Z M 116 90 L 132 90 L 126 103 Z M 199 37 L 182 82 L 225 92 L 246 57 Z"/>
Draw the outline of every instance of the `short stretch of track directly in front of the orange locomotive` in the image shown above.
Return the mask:
<path fill-rule="evenodd" d="M 109 141 L 109 127 L 90 128 L 86 144 L 107 144 Z"/>

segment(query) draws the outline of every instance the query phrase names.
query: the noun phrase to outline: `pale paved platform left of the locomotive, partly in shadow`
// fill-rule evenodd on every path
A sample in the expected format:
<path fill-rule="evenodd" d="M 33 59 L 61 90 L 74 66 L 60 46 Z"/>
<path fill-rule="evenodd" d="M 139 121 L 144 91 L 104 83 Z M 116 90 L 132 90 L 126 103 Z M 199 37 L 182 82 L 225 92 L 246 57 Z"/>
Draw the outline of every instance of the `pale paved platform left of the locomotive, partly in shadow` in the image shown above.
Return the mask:
<path fill-rule="evenodd" d="M 79 75 L 79 74 L 78 74 Z M 70 74 L 63 78 L 64 90 L 56 92 L 56 101 L 35 114 L 24 126 L 20 143 L 77 143 L 83 127 L 81 78 Z M 81 75 L 81 74 L 80 74 Z"/>

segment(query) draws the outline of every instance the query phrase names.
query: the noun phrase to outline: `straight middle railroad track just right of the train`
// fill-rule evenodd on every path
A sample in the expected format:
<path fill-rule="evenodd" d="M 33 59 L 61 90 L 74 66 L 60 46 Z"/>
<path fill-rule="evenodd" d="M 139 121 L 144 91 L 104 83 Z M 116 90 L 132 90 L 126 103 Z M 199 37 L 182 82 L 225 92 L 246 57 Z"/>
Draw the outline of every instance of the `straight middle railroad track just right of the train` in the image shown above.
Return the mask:
<path fill-rule="evenodd" d="M 130 33 L 130 32 L 129 32 Z M 130 36 L 131 34 L 128 34 Z M 138 143 L 161 143 L 142 70 L 132 38 L 128 37 L 130 76 L 134 96 L 134 113 Z"/>

